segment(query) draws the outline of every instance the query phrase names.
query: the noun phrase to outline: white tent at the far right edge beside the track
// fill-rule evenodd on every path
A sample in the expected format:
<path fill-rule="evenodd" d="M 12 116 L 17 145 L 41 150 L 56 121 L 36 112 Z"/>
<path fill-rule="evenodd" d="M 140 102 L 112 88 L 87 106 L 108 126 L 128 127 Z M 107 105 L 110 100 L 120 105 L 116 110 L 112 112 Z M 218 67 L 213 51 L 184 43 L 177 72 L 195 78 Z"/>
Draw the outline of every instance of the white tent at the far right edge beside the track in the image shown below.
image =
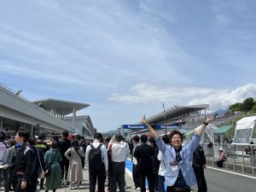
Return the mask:
<path fill-rule="evenodd" d="M 249 144 L 256 142 L 256 116 L 245 117 L 236 122 L 236 132 L 232 144 Z"/>

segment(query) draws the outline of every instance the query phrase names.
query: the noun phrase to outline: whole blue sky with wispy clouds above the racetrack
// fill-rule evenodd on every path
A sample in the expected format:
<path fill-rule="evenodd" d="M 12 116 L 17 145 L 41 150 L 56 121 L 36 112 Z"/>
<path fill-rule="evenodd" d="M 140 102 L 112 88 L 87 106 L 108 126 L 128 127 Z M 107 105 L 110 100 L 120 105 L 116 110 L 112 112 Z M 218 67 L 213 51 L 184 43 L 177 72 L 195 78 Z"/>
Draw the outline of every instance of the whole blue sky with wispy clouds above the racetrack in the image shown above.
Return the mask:
<path fill-rule="evenodd" d="M 255 1 L 26 0 L 0 7 L 0 82 L 90 104 L 99 131 L 256 96 Z"/>

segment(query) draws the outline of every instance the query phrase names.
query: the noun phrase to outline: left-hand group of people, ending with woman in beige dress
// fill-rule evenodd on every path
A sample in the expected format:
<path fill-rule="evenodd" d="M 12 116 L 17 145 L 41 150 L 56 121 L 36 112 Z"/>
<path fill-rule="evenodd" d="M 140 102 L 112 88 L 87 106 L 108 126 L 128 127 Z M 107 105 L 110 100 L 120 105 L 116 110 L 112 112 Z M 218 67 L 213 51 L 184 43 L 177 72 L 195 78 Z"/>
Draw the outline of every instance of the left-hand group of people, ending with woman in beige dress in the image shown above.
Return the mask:
<path fill-rule="evenodd" d="M 38 137 L 20 129 L 14 138 L 0 132 L 0 174 L 4 191 L 46 192 L 68 185 L 79 189 L 83 180 L 84 154 L 87 143 L 83 137 L 52 137 L 45 142 L 44 133 Z M 39 188 L 38 188 L 39 184 Z"/>

